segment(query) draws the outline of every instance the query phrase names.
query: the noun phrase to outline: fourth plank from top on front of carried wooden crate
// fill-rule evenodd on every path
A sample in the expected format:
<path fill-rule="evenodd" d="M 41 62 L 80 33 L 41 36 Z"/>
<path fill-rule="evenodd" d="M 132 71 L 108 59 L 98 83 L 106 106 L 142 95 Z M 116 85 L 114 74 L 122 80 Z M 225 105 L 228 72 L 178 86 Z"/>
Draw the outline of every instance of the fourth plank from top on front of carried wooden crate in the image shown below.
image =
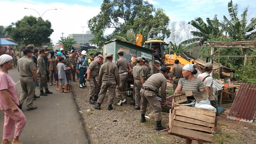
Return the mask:
<path fill-rule="evenodd" d="M 201 126 L 201 125 L 180 122 L 180 121 L 176 121 L 176 120 L 172 121 L 172 126 L 177 126 L 177 127 L 187 128 L 187 129 L 193 129 L 193 130 L 198 130 L 198 131 L 204 131 L 204 132 L 210 132 L 210 133 L 213 132 L 213 129 L 209 128 L 209 127 L 204 127 L 204 126 Z"/>

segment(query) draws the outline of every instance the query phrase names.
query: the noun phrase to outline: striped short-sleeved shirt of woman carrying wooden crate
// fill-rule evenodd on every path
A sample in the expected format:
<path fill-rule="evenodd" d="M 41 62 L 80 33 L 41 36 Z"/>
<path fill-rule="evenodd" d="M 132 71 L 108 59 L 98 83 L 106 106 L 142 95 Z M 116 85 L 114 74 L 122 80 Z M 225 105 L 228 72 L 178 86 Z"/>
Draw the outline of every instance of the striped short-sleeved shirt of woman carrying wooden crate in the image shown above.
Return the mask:
<path fill-rule="evenodd" d="M 192 91 L 193 93 L 199 92 L 199 89 L 203 89 L 204 83 L 201 79 L 195 78 L 189 81 L 187 78 L 181 78 L 178 84 L 182 84 L 181 91 Z"/>

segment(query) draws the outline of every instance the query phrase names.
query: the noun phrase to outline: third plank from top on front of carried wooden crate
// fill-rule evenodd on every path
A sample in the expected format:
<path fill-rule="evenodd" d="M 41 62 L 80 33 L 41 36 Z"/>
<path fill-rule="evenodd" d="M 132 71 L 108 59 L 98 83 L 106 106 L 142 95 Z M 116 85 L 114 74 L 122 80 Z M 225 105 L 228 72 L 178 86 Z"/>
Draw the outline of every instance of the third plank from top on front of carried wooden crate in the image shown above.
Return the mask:
<path fill-rule="evenodd" d="M 184 116 L 175 116 L 174 120 L 181 121 L 181 122 L 187 122 L 187 123 L 191 123 L 191 124 L 203 125 L 203 126 L 206 126 L 206 127 L 214 127 L 214 124 L 207 123 L 207 122 L 204 122 L 204 121 L 200 121 L 200 120 L 197 120 L 197 119 L 184 117 Z M 169 124 L 169 127 L 170 126 L 171 125 Z"/>

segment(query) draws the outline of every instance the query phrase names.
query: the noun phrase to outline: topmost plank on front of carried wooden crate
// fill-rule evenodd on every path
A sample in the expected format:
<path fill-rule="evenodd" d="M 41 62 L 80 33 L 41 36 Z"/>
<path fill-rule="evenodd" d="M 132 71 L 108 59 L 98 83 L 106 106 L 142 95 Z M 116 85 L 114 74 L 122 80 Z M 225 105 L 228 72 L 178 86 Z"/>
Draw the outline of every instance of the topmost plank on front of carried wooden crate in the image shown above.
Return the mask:
<path fill-rule="evenodd" d="M 193 108 L 188 106 L 176 106 L 175 110 L 189 111 L 196 114 L 206 115 L 215 117 L 216 112 L 212 110 L 202 109 L 202 108 Z"/>

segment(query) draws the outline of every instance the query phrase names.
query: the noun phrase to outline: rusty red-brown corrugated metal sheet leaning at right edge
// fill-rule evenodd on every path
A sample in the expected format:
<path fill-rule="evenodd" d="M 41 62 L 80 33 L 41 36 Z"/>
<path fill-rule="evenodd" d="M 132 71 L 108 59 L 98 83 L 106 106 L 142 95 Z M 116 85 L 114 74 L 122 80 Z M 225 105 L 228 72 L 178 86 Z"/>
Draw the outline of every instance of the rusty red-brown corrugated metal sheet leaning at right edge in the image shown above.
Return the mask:
<path fill-rule="evenodd" d="M 241 83 L 227 118 L 252 123 L 255 112 L 256 84 Z"/>

